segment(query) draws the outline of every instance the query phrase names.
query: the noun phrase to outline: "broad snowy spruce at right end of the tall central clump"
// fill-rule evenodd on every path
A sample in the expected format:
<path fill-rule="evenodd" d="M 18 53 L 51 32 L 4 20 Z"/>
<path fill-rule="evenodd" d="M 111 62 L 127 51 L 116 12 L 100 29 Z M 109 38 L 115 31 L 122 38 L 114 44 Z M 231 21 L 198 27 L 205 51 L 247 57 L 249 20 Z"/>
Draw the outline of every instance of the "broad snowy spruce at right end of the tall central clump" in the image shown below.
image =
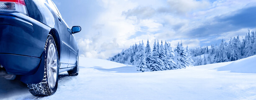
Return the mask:
<path fill-rule="evenodd" d="M 186 50 L 184 50 L 184 47 L 182 47 L 182 42 L 181 44 L 178 43 L 178 46 L 175 51 L 177 53 L 176 56 L 178 68 L 186 68 L 192 66 L 192 62 L 194 61 L 189 59 L 189 55 L 186 53 Z"/>

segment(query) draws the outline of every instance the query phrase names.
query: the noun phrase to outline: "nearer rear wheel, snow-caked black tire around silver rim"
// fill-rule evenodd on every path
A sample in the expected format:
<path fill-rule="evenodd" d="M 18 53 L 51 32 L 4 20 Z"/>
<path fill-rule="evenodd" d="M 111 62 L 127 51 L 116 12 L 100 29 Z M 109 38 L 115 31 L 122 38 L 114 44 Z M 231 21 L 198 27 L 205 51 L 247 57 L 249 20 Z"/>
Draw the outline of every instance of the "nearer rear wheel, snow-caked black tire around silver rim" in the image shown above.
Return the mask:
<path fill-rule="evenodd" d="M 29 92 L 35 96 L 53 95 L 58 87 L 59 56 L 54 38 L 49 35 L 44 48 L 44 78 L 38 84 L 27 84 Z"/>

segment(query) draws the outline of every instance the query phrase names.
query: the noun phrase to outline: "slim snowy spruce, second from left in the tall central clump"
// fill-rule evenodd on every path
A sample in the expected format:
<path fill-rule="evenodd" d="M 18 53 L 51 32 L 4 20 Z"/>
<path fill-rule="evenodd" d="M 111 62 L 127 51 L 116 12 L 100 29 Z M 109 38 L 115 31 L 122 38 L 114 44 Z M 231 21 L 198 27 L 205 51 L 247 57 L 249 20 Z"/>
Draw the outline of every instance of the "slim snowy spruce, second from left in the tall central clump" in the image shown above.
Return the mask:
<path fill-rule="evenodd" d="M 150 45 L 149 45 L 149 42 L 147 41 L 147 45 L 146 45 L 146 48 L 145 48 L 145 55 L 146 55 L 146 65 L 149 69 L 149 67 L 152 65 L 152 53 L 151 53 L 151 48 L 150 48 Z"/>

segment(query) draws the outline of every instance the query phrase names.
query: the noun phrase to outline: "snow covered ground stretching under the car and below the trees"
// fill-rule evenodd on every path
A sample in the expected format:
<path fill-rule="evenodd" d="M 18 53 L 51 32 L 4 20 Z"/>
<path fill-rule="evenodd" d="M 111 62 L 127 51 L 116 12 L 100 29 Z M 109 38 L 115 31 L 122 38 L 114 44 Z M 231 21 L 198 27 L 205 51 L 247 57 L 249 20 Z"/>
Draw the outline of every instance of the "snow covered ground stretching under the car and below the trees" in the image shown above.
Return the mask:
<path fill-rule="evenodd" d="M 31 95 L 17 80 L 0 78 L 0 100 L 256 100 L 256 56 L 179 70 L 135 67 L 80 57 L 80 72 L 59 75 L 56 93 Z"/>

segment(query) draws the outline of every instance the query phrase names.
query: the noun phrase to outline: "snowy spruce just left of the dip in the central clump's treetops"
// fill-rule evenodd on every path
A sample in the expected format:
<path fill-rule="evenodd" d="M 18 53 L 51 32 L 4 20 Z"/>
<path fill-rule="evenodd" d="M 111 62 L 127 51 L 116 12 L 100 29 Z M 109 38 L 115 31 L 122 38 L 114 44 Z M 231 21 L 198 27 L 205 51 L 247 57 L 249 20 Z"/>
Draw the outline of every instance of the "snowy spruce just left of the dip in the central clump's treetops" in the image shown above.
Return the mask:
<path fill-rule="evenodd" d="M 165 51 L 165 55 L 166 55 L 166 61 L 167 61 L 167 64 L 168 64 L 170 70 L 178 69 L 176 63 L 173 61 L 174 60 L 174 52 L 172 51 L 172 47 L 170 44 L 168 45 L 166 43 L 166 41 L 164 43 L 164 51 Z"/>

